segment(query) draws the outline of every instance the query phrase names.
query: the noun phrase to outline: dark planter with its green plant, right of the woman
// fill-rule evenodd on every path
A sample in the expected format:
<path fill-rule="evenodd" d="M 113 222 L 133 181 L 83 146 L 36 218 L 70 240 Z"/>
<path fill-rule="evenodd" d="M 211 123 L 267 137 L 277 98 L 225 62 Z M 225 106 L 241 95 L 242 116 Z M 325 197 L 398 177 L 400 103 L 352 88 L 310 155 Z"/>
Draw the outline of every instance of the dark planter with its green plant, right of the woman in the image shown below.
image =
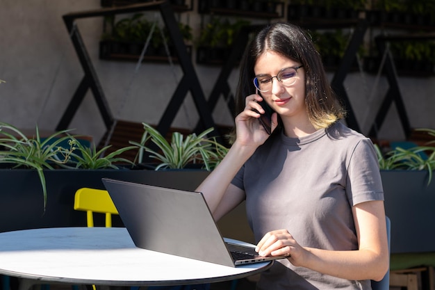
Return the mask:
<path fill-rule="evenodd" d="M 417 131 L 435 136 L 433 129 Z M 391 219 L 391 252 L 435 252 L 434 141 L 403 144 L 386 153 L 376 146 L 386 215 Z"/>

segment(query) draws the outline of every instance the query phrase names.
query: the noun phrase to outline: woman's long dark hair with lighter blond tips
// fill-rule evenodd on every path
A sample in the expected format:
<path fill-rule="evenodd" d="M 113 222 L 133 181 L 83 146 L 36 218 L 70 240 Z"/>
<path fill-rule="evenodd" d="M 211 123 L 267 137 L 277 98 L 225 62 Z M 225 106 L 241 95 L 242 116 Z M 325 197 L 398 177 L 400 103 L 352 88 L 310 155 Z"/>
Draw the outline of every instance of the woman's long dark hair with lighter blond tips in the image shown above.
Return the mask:
<path fill-rule="evenodd" d="M 344 117 L 343 107 L 329 85 L 320 54 L 305 31 L 289 23 L 265 26 L 250 42 L 242 62 L 236 92 L 236 115 L 245 108 L 245 97 L 255 93 L 254 65 L 263 52 L 275 51 L 304 65 L 305 103 L 309 120 L 316 129 L 327 128 Z"/>

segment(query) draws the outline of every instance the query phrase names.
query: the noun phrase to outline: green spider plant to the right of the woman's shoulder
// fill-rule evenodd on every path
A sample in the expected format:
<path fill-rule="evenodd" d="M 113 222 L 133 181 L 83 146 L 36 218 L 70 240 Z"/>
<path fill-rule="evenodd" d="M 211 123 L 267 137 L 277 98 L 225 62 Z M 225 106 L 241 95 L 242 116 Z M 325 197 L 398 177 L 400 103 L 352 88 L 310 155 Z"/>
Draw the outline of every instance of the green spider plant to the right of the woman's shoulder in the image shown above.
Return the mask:
<path fill-rule="evenodd" d="M 435 136 L 434 129 L 416 129 L 416 131 L 426 131 L 427 134 Z M 430 141 L 425 145 L 409 149 L 396 147 L 386 154 L 382 154 L 379 147 L 375 145 L 379 168 L 384 170 L 427 170 L 429 175 L 427 184 L 429 184 L 435 169 L 435 147 L 431 146 L 434 143 L 435 141 Z"/>

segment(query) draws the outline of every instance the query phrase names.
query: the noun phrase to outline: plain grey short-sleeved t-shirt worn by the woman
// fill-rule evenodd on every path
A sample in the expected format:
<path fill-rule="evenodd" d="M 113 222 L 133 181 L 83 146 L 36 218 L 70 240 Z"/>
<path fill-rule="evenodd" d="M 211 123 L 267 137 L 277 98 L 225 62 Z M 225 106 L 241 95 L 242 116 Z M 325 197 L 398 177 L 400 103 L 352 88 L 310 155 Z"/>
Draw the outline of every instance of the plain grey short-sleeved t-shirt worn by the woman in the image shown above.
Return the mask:
<path fill-rule="evenodd" d="M 340 122 L 302 138 L 270 136 L 232 184 L 246 193 L 256 241 L 288 229 L 300 245 L 326 250 L 357 250 L 351 207 L 384 200 L 371 140 Z M 281 259 L 261 275 L 257 288 L 370 289 L 370 281 L 322 275 Z"/>

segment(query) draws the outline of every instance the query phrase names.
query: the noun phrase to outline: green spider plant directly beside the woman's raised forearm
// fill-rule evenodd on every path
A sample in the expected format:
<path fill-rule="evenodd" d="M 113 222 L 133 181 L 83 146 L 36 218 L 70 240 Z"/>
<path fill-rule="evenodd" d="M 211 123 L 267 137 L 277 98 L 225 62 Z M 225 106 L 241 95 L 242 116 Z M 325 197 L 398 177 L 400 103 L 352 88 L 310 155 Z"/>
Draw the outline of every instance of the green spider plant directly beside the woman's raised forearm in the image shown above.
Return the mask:
<path fill-rule="evenodd" d="M 190 134 L 184 138 L 183 134 L 174 132 L 170 143 L 164 136 L 149 124 L 142 123 L 145 129 L 140 143 L 131 141 L 133 145 L 140 147 L 138 152 L 138 163 L 142 163 L 145 152 L 149 153 L 151 159 L 156 159 L 160 163 L 155 170 L 172 168 L 185 168 L 188 164 L 203 164 L 208 171 L 217 166 L 222 158 L 227 154 L 228 149 L 218 143 L 215 138 L 207 137 L 213 128 L 203 131 L 197 135 Z M 148 142 L 154 143 L 158 150 L 153 150 L 147 146 Z"/>

